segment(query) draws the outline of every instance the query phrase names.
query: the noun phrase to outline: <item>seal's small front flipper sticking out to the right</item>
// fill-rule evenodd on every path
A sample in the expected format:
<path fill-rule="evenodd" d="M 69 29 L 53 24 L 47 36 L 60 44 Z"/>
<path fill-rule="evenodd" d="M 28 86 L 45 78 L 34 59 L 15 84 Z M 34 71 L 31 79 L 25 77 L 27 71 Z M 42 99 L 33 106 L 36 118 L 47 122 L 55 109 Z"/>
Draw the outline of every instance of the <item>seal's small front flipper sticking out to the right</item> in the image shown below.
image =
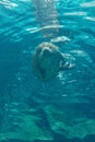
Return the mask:
<path fill-rule="evenodd" d="M 70 62 L 66 62 L 63 63 L 62 61 L 60 62 L 60 69 L 59 71 L 63 71 L 63 70 L 70 70 L 72 68 L 75 67 L 75 63 L 70 63 Z"/>

